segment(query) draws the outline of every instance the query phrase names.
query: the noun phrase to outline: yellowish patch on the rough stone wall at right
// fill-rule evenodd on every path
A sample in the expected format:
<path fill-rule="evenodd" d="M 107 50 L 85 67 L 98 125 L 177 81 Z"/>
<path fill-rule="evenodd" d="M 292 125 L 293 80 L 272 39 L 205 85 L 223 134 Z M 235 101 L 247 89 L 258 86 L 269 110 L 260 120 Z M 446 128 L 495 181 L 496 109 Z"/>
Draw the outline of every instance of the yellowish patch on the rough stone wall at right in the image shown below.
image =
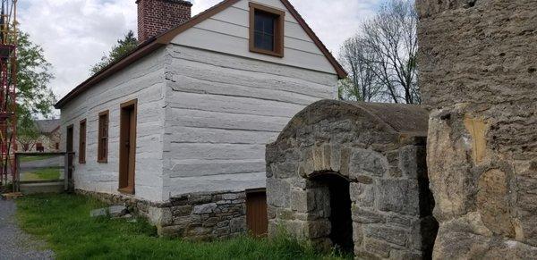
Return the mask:
<path fill-rule="evenodd" d="M 466 116 L 465 127 L 472 136 L 473 162 L 479 164 L 482 162 L 487 151 L 487 139 L 485 135 L 487 134 L 488 125 L 481 119 Z"/>

